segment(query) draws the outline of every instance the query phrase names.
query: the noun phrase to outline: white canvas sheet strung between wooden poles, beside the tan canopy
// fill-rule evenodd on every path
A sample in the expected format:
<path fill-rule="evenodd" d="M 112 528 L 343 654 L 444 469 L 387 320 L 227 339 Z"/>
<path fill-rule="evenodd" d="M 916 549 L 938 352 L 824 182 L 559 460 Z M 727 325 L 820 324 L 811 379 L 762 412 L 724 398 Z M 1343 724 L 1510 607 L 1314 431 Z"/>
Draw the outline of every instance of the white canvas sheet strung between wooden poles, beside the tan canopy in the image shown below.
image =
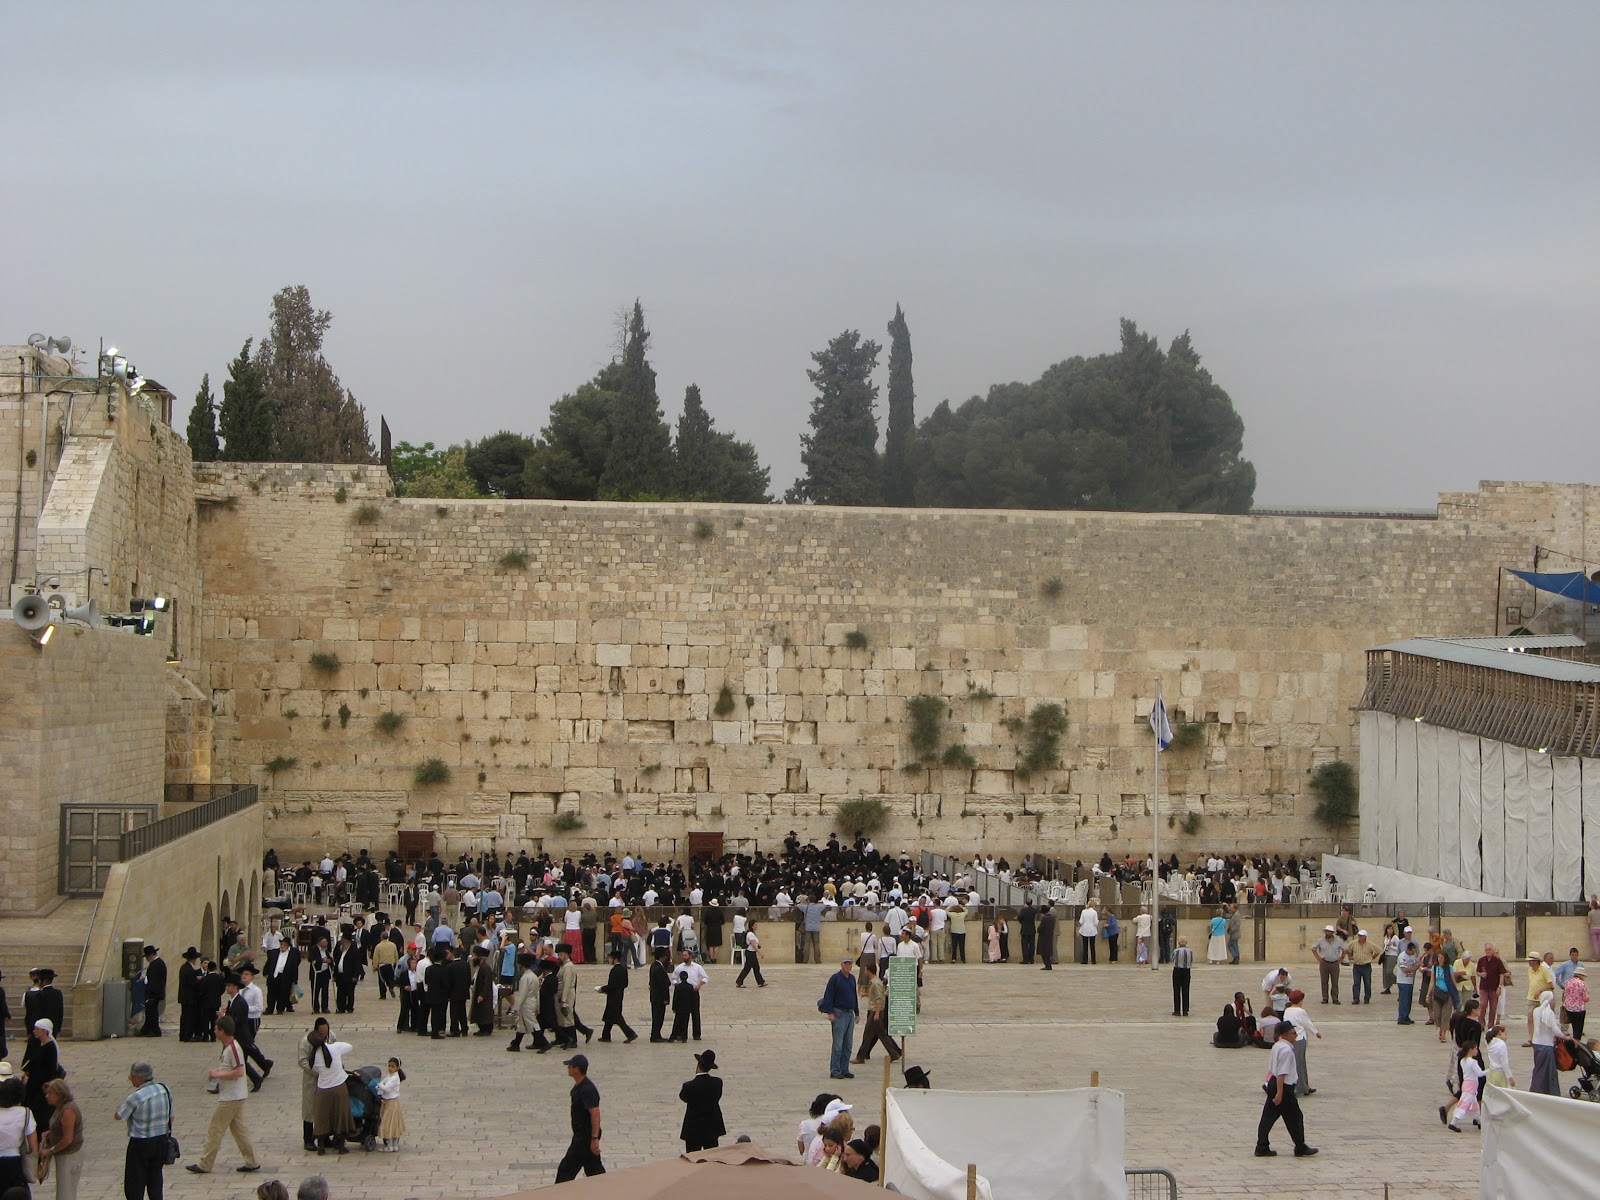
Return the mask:
<path fill-rule="evenodd" d="M 891 1090 L 883 1178 L 918 1200 L 1126 1200 L 1123 1096 L 1074 1091 Z"/>

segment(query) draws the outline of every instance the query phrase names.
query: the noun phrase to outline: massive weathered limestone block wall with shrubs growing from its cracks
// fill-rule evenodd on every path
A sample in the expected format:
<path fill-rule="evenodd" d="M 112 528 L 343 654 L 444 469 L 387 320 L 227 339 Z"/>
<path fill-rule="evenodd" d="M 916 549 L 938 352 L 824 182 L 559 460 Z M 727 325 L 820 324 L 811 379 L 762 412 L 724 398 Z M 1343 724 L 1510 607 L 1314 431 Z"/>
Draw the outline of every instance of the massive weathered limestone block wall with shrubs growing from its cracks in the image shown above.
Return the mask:
<path fill-rule="evenodd" d="M 1163 840 L 1322 848 L 1306 781 L 1355 754 L 1363 650 L 1491 632 L 1499 565 L 1582 514 L 1517 486 L 1429 522 L 402 501 L 373 469 L 211 466 L 216 771 L 267 786 L 294 856 L 773 846 L 856 797 L 880 845 L 1098 854 L 1147 845 L 1160 678 L 1203 734 L 1162 760 L 1198 832 Z M 971 766 L 912 766 L 918 694 Z M 1062 765 L 1022 782 L 1010 723 L 1045 702 Z"/>

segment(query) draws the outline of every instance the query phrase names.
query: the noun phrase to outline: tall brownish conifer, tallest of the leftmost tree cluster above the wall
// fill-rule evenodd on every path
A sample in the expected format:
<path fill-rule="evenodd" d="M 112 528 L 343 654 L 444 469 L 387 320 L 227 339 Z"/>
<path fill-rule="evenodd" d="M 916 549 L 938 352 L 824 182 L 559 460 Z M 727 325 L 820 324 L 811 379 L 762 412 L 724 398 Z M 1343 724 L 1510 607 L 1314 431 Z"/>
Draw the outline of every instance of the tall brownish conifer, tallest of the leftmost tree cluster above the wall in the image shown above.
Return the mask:
<path fill-rule="evenodd" d="M 366 413 L 339 382 L 322 342 L 333 314 L 310 302 L 304 285 L 272 298 L 272 331 L 256 355 L 277 413 L 272 458 L 278 462 L 371 462 Z"/>

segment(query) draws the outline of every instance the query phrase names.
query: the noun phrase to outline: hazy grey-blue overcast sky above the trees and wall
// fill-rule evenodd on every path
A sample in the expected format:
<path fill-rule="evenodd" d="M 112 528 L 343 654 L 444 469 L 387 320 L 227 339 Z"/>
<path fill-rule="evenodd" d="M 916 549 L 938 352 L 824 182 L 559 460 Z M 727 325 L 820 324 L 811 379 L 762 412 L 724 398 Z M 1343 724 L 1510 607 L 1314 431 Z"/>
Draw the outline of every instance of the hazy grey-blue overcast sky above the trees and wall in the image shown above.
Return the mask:
<path fill-rule="evenodd" d="M 10 3 L 0 342 L 181 397 L 304 283 L 374 435 L 536 434 L 638 296 L 781 493 L 808 355 L 917 413 L 1189 330 L 1258 504 L 1597 480 L 1600 5 Z M 882 374 L 880 368 L 880 374 Z"/>

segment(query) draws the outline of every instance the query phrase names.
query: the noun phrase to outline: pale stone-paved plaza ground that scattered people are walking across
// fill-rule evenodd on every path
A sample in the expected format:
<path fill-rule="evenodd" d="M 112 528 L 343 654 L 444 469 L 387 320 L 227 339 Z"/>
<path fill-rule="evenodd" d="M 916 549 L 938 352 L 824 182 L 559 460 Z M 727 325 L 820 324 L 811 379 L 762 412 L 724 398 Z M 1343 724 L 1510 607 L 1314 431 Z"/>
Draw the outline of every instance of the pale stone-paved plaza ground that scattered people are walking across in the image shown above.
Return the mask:
<path fill-rule="evenodd" d="M 1293 963 L 1291 963 L 1293 966 Z M 709 968 L 706 1046 L 717 1051 L 726 1080 L 723 1112 L 730 1139 L 749 1133 L 776 1149 L 794 1149 L 795 1125 L 818 1091 L 838 1091 L 856 1102 L 859 1123 L 878 1120 L 880 1058 L 858 1067 L 854 1080 L 829 1080 L 827 1027 L 816 998 L 824 966 L 776 966 L 770 987 L 754 981 L 733 987 L 733 968 Z M 586 966 L 579 1013 L 595 1022 L 600 997 L 592 986 L 602 968 Z M 1197 966 L 1194 1014 L 1173 1019 L 1170 976 L 1128 965 L 1058 968 L 1051 974 L 1019 963 L 928 968 L 922 1032 L 910 1061 L 925 1066 L 934 1086 L 968 1090 L 1083 1086 L 1091 1070 L 1101 1083 L 1126 1093 L 1128 1165 L 1166 1166 L 1184 1197 L 1392 1197 L 1478 1195 L 1478 1134 L 1445 1131 L 1437 1107 L 1445 1099 L 1445 1048 L 1432 1029 L 1394 1024 L 1394 997 L 1371 1006 L 1315 1003 L 1315 970 L 1306 963 L 1299 982 L 1312 984 L 1309 1011 L 1323 1029 L 1312 1042 L 1310 1075 L 1318 1093 L 1304 1102 L 1307 1138 L 1322 1149 L 1312 1160 L 1288 1155 L 1282 1126 L 1274 1146 L 1282 1157 L 1251 1155 L 1261 1112 L 1259 1083 L 1267 1054 L 1213 1050 L 1213 1022 L 1234 990 L 1258 997 L 1264 966 Z M 650 1045 L 645 973 L 635 971 L 629 1014 L 642 1040 L 624 1046 L 587 1046 L 590 1077 L 605 1114 L 605 1162 L 632 1166 L 677 1154 L 682 1106 L 677 1093 L 693 1074 L 691 1048 Z M 238 1152 L 226 1141 L 213 1176 L 182 1166 L 166 1173 L 170 1197 L 250 1197 L 261 1179 L 294 1186 L 323 1173 L 336 1200 L 418 1197 L 494 1197 L 549 1184 L 566 1144 L 568 1080 L 560 1056 L 507 1054 L 506 1037 L 451 1042 L 394 1032 L 395 1008 L 379 1003 L 365 984 L 355 1018 L 334 1026 L 355 1045 L 354 1064 L 405 1059 L 403 1099 L 411 1136 L 397 1155 L 346 1157 L 306 1154 L 301 1147 L 299 1077 L 294 1048 L 309 1027 L 306 1008 L 269 1018 L 262 1046 L 277 1069 L 251 1098 L 248 1122 L 264 1171 L 234 1173 Z M 171 1014 L 173 1022 L 176 1013 Z M 1517 1032 L 1517 1030 L 1514 1030 Z M 1523 1038 L 1509 1038 L 1517 1046 Z M 882 1054 L 882 1050 L 878 1051 Z M 149 1056 L 157 1077 L 174 1091 L 176 1133 L 184 1162 L 200 1154 L 211 1098 L 203 1094 L 210 1046 L 155 1040 L 70 1043 L 62 1059 L 86 1115 L 88 1163 L 82 1195 L 122 1195 L 122 1126 L 112 1122 L 126 1093 L 126 1066 Z M 1518 1082 L 1531 1072 L 1531 1051 L 1514 1048 Z M 982 1166 L 979 1163 L 979 1166 Z M 53 1194 L 40 1189 L 42 1194 Z"/>

